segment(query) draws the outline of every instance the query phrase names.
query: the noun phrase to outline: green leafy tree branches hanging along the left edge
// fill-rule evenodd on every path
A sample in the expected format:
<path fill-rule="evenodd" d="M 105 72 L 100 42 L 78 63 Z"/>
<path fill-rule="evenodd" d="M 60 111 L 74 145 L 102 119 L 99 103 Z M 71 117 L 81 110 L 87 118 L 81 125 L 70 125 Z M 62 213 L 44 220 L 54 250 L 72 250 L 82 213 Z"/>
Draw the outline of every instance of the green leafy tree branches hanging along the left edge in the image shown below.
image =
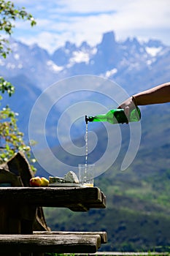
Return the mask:
<path fill-rule="evenodd" d="M 26 12 L 24 7 L 18 8 L 12 1 L 0 0 L 0 30 L 4 33 L 4 37 L 0 35 L 0 55 L 3 58 L 6 58 L 11 51 L 5 34 L 8 36 L 12 34 L 15 28 L 14 22 L 18 19 L 28 20 L 31 26 L 36 24 L 33 16 Z M 0 77 L 0 100 L 3 99 L 2 94 L 7 93 L 11 97 L 14 92 L 15 87 Z M 17 151 L 23 151 L 28 158 L 31 158 L 30 146 L 24 143 L 23 133 L 18 129 L 16 116 L 17 113 L 8 106 L 0 110 L 0 164 L 6 162 Z M 35 162 L 35 159 L 31 161 Z M 36 170 L 32 165 L 31 167 L 32 170 Z"/>

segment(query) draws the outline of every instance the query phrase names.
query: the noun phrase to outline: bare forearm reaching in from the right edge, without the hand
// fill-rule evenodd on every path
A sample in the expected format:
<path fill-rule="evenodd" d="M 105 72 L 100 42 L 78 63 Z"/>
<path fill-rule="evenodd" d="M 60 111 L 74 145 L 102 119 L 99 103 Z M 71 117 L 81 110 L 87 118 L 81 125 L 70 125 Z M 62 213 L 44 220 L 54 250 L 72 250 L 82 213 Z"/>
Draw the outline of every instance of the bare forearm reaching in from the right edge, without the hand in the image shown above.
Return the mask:
<path fill-rule="evenodd" d="M 134 94 L 136 105 L 151 105 L 170 102 L 170 83 Z"/>

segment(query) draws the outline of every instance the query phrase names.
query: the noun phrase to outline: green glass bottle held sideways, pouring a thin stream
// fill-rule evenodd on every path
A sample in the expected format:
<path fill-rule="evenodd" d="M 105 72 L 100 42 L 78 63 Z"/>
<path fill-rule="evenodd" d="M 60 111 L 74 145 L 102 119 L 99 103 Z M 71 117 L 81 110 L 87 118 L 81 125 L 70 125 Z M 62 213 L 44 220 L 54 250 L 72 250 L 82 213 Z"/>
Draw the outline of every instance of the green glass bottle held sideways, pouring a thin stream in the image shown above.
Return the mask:
<path fill-rule="evenodd" d="M 85 122 L 88 124 L 88 121 L 107 121 L 111 124 L 123 124 L 133 121 L 139 121 L 141 118 L 141 111 L 138 107 L 131 110 L 129 118 L 125 116 L 125 112 L 122 108 L 117 108 L 114 110 L 109 110 L 107 114 L 98 115 L 98 116 L 85 116 Z"/>

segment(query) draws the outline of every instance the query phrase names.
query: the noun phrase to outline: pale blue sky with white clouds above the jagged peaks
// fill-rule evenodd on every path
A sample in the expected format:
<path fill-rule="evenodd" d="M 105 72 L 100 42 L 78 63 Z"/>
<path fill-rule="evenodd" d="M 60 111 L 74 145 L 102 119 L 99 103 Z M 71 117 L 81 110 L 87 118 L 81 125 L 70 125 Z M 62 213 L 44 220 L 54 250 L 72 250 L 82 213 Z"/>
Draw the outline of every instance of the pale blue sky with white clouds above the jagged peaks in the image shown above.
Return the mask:
<path fill-rule="evenodd" d="M 13 0 L 36 19 L 15 23 L 13 37 L 27 45 L 38 44 L 53 53 L 66 41 L 94 46 L 102 35 L 115 32 L 117 41 L 136 37 L 159 39 L 170 45 L 170 0 Z"/>

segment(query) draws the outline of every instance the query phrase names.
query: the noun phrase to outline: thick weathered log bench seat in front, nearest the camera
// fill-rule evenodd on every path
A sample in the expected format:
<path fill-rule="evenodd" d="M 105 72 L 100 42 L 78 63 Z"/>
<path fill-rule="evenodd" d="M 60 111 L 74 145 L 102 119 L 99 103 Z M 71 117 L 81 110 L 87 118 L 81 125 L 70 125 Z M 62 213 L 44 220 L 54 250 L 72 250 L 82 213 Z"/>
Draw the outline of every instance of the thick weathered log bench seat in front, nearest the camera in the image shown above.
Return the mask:
<path fill-rule="evenodd" d="M 94 235 L 0 235 L 1 253 L 56 252 L 94 253 L 101 246 L 101 236 Z"/>

